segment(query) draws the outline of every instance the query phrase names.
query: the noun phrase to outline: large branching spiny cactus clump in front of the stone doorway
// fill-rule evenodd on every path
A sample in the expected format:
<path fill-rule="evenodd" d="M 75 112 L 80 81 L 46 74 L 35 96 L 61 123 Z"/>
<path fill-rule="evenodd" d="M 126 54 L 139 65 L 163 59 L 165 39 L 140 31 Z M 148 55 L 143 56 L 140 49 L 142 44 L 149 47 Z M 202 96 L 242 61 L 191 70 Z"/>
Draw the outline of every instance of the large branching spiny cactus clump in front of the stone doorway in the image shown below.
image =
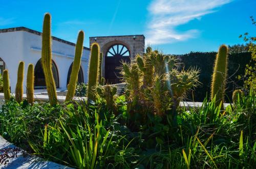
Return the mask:
<path fill-rule="evenodd" d="M 176 109 L 185 92 L 197 85 L 199 71 L 178 71 L 175 66 L 174 56 L 152 51 L 150 47 L 143 56 L 137 55 L 131 64 L 123 63 L 127 111 L 140 107 L 139 112 L 162 116 L 171 107 Z"/>

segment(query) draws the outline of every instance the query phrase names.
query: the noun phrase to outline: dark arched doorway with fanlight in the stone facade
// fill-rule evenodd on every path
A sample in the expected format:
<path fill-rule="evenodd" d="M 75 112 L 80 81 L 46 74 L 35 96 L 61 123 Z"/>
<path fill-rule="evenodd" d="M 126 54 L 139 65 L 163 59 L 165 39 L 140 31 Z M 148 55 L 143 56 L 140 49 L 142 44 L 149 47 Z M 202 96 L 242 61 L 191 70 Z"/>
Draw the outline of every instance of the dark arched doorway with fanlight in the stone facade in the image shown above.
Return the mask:
<path fill-rule="evenodd" d="M 114 44 L 109 47 L 105 56 L 106 83 L 120 83 L 122 62 L 131 62 L 130 50 L 123 44 Z"/>

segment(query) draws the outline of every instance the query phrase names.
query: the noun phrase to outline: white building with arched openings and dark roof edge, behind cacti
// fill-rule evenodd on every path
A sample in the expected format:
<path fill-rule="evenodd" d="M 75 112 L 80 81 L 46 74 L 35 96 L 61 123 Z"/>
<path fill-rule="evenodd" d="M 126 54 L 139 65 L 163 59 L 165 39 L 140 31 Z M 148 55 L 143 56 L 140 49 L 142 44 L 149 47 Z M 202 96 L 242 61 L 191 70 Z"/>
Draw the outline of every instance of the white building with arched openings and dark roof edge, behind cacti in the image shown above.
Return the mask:
<path fill-rule="evenodd" d="M 52 37 L 53 74 L 57 90 L 66 90 L 71 65 L 74 60 L 75 43 Z M 90 49 L 83 47 L 79 82 L 87 82 Z M 25 62 L 24 92 L 26 93 L 27 69 L 29 63 L 35 68 L 35 92 L 46 88 L 44 73 L 40 65 L 41 33 L 24 27 L 0 29 L 0 71 L 9 71 L 11 92 L 15 92 L 19 61 Z"/>

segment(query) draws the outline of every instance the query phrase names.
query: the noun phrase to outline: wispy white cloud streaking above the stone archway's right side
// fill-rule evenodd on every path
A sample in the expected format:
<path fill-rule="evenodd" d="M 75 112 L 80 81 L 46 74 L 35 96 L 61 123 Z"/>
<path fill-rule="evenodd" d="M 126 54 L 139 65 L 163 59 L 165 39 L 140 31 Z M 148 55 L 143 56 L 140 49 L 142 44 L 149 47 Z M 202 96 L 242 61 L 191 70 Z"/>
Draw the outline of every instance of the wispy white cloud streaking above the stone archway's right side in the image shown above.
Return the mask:
<path fill-rule="evenodd" d="M 147 24 L 148 44 L 164 44 L 195 38 L 199 30 L 179 32 L 177 26 L 190 20 L 216 12 L 217 8 L 232 0 L 153 0 L 148 6 L 150 20 Z"/>

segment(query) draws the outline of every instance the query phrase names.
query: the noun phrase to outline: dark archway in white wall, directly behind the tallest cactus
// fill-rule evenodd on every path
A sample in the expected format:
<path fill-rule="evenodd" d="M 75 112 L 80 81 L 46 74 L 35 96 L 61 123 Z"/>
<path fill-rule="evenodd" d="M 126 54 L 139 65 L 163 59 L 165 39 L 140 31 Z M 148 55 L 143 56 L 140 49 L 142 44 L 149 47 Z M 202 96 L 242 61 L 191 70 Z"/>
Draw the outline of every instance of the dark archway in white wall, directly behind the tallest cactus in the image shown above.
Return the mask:
<path fill-rule="evenodd" d="M 57 66 L 54 63 L 54 61 L 52 61 L 52 73 L 53 73 L 53 78 L 54 78 L 56 87 L 58 88 L 59 87 L 59 74 L 58 74 Z M 38 60 L 35 65 L 34 75 L 35 75 L 34 88 L 35 89 L 46 88 L 46 79 L 45 79 L 44 71 L 42 70 L 41 59 Z"/>

